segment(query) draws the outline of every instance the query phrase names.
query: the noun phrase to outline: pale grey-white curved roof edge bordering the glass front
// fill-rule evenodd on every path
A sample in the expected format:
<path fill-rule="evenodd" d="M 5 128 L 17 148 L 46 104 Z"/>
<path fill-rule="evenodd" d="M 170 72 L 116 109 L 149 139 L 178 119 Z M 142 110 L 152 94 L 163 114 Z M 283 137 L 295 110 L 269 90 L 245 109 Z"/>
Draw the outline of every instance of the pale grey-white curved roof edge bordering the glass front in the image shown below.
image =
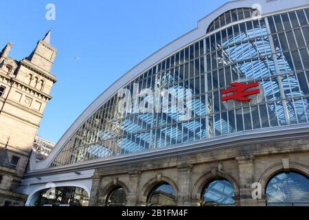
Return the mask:
<path fill-rule="evenodd" d="M 163 58 L 173 54 L 174 52 L 181 50 L 181 48 L 189 45 L 190 43 L 201 39 L 205 36 L 209 23 L 214 21 L 216 17 L 220 14 L 232 10 L 234 8 L 247 8 L 251 7 L 253 4 L 259 3 L 262 8 L 262 14 L 270 14 L 271 12 L 279 12 L 286 10 L 288 8 L 297 8 L 304 5 L 308 5 L 308 0 L 238 0 L 229 1 L 224 5 L 220 6 L 218 9 L 211 12 L 206 17 L 198 21 L 198 27 L 178 39 L 172 41 L 168 45 L 165 45 L 160 50 L 154 54 L 148 56 L 144 61 L 137 64 L 135 67 L 130 69 L 124 76 L 115 81 L 110 87 L 108 87 L 98 98 L 96 98 L 89 107 L 85 109 L 80 116 L 73 122 L 73 124 L 67 129 L 64 135 L 60 138 L 50 155 L 41 162 L 36 162 L 36 164 L 31 164 L 32 170 L 39 170 L 47 168 L 49 164 L 54 160 L 58 152 L 62 149 L 71 136 L 76 133 L 79 127 L 95 112 L 99 107 L 117 93 L 119 89 L 124 87 L 126 84 L 130 83 L 134 78 L 143 74 L 147 69 L 161 61 Z"/>

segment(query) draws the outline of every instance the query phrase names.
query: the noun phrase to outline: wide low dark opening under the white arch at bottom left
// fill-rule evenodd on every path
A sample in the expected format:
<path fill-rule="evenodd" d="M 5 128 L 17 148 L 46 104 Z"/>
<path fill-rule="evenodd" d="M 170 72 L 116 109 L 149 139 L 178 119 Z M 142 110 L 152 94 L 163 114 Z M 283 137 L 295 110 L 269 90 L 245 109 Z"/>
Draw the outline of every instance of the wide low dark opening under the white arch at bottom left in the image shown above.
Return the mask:
<path fill-rule="evenodd" d="M 80 187 L 46 188 L 34 194 L 30 206 L 88 206 L 89 195 Z"/>

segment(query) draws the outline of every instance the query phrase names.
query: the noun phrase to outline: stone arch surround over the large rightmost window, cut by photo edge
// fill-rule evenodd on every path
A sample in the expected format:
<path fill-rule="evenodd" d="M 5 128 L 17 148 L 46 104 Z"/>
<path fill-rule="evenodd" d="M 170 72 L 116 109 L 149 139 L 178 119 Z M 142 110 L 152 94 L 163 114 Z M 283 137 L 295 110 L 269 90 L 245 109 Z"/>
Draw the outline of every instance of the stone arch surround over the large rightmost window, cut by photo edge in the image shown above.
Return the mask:
<path fill-rule="evenodd" d="M 299 164 L 297 162 L 289 162 L 289 167 L 284 168 L 282 163 L 273 164 L 273 166 L 268 167 L 261 175 L 259 179 L 259 183 L 261 184 L 262 188 L 262 198 L 266 198 L 265 191 L 266 191 L 266 185 L 268 184 L 268 181 L 271 180 L 271 178 L 274 177 L 277 173 L 281 173 L 284 171 L 295 171 L 297 173 L 301 173 L 302 175 L 305 175 L 306 177 L 309 177 L 309 168 L 308 166 L 304 164 Z"/>

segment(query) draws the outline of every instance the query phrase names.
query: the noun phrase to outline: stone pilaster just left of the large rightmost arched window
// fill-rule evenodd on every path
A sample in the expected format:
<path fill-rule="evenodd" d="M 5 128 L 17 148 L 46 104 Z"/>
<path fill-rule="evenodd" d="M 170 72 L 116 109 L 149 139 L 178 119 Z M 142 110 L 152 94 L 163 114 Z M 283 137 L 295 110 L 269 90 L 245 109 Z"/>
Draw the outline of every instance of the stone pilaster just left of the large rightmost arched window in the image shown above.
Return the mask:
<path fill-rule="evenodd" d="M 258 201 L 252 197 L 252 184 L 255 181 L 254 156 L 236 157 L 236 160 L 239 170 L 240 206 L 258 206 Z"/>

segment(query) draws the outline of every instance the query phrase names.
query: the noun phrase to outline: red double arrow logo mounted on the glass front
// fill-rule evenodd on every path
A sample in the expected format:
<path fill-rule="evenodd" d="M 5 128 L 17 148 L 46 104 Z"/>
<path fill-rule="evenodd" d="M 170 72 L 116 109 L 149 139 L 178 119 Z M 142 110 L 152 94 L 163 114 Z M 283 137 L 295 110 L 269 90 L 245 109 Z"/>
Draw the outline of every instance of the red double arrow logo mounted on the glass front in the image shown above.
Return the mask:
<path fill-rule="evenodd" d="M 221 91 L 222 95 L 225 94 L 230 94 L 233 92 L 233 94 L 229 96 L 222 96 L 221 100 L 222 101 L 227 101 L 227 100 L 238 100 L 240 102 L 247 102 L 250 101 L 251 98 L 248 98 L 247 96 L 251 96 L 254 94 L 260 94 L 260 89 L 253 89 L 250 91 L 246 91 L 247 89 L 251 89 L 254 87 L 258 87 L 259 83 L 250 83 L 250 84 L 245 84 L 245 83 L 231 83 L 230 84 L 232 88 L 230 89 L 225 89 Z"/>

